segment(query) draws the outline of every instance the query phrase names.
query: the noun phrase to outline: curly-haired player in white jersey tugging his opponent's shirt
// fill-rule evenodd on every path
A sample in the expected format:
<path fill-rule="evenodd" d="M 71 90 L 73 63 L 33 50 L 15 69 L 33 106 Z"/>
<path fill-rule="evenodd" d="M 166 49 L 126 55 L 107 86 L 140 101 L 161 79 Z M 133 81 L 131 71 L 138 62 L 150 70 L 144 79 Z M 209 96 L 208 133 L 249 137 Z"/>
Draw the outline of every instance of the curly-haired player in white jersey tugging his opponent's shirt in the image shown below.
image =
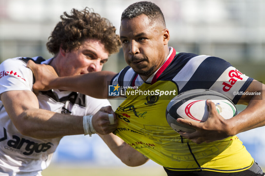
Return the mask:
<path fill-rule="evenodd" d="M 72 9 L 61 15 L 49 37 L 47 49 L 53 58 L 16 57 L 0 64 L 0 175 L 41 175 L 60 139 L 78 134 L 98 133 L 124 163 L 139 165 L 130 158 L 136 150 L 107 135 L 117 127 L 108 100 L 59 89 L 34 94 L 34 75 L 26 67 L 29 60 L 48 64 L 61 77 L 101 71 L 109 55 L 121 47 L 115 31 L 109 20 L 92 9 Z M 129 152 L 124 154 L 124 149 Z"/>

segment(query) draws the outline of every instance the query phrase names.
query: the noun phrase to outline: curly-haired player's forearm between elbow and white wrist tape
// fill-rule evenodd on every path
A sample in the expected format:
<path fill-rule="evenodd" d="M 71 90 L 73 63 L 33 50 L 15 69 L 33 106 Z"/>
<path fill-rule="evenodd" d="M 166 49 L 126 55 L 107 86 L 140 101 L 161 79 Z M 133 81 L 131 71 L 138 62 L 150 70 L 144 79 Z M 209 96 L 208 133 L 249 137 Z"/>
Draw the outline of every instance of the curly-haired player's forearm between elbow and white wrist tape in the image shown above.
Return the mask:
<path fill-rule="evenodd" d="M 83 117 L 59 114 L 43 109 L 28 109 L 14 123 L 25 136 L 39 139 L 84 134 Z"/>

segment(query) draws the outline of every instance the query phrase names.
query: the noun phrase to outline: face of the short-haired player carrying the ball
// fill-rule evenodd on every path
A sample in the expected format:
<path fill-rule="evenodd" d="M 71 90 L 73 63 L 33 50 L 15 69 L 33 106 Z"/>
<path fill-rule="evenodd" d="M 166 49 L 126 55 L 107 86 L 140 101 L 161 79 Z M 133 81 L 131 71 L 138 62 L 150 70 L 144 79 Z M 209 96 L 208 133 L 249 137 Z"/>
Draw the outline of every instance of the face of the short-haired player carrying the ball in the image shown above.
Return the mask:
<path fill-rule="evenodd" d="M 164 26 L 146 15 L 121 21 L 120 38 L 125 61 L 142 78 L 148 78 L 165 61 Z"/>

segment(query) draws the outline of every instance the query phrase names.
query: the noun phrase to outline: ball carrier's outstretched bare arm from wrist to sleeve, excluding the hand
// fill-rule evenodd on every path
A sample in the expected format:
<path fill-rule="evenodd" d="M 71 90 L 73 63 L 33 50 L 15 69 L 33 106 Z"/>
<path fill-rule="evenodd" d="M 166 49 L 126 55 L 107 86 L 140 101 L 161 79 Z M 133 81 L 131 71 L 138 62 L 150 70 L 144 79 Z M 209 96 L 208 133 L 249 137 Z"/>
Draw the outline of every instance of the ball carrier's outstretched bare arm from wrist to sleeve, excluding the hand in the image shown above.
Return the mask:
<path fill-rule="evenodd" d="M 58 77 L 50 83 L 51 89 L 80 92 L 94 98 L 107 98 L 107 85 L 116 73 L 92 72 L 77 76 Z"/>

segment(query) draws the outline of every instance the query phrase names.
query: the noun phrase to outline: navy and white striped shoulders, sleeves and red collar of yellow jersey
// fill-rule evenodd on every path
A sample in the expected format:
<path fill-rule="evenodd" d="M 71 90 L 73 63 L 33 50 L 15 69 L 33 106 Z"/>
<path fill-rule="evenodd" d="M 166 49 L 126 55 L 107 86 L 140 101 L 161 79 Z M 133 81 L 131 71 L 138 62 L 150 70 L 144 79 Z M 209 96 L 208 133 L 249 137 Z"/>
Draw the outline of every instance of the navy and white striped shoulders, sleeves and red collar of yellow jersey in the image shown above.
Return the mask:
<path fill-rule="evenodd" d="M 191 89 L 210 89 L 226 95 L 234 104 L 237 104 L 242 95 L 234 95 L 233 92 L 244 92 L 253 81 L 253 78 L 242 74 L 221 58 L 192 53 L 176 53 L 174 55 L 175 49 L 169 48 L 169 55 L 172 58 L 170 62 L 166 59 L 163 64 L 166 68 L 163 72 L 161 72 L 161 68 L 158 69 L 144 82 L 130 66 L 127 66 L 113 77 L 111 84 L 119 84 L 124 88 L 121 89 L 124 92 L 129 86 L 139 87 L 143 83 L 172 81 L 177 86 L 178 94 Z M 174 57 L 172 52 L 174 52 Z M 160 72 L 158 72 L 159 70 Z"/>

